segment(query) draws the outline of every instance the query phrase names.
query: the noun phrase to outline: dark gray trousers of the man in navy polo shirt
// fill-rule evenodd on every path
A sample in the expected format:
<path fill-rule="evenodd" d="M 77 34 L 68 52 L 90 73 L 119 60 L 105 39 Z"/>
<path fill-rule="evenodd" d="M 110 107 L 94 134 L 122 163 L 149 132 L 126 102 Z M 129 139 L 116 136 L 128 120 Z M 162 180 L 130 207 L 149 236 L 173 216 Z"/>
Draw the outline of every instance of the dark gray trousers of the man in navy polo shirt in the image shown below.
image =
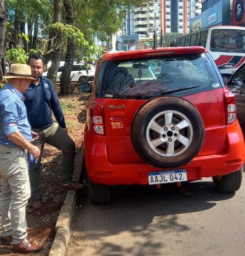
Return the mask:
<path fill-rule="evenodd" d="M 61 184 L 68 184 L 72 180 L 73 166 L 75 159 L 76 146 L 69 135 L 56 123 L 53 123 L 46 129 L 32 129 L 32 131 L 38 133 L 39 139 L 33 141 L 33 145 L 37 146 L 41 151 L 45 143 L 56 147 L 61 150 L 62 162 L 61 162 Z M 29 165 L 29 177 L 31 184 L 31 197 L 42 198 L 42 192 L 40 189 L 40 163 L 41 156 L 38 159 L 38 163 L 31 163 Z"/>

